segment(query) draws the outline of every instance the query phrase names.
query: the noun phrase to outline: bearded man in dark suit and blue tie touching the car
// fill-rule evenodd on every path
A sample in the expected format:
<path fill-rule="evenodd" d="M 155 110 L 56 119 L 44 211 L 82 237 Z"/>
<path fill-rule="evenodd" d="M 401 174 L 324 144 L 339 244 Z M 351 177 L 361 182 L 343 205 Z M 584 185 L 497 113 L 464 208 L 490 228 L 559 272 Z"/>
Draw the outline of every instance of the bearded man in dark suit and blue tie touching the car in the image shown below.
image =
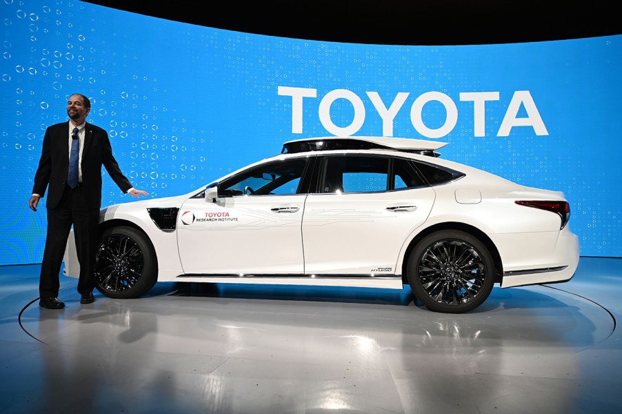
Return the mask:
<path fill-rule="evenodd" d="M 123 193 L 137 198 L 147 195 L 145 191 L 133 188 L 121 172 L 112 155 L 108 132 L 86 122 L 90 107 L 91 103 L 84 95 L 69 97 L 67 115 L 70 119 L 46 129 L 39 168 L 34 175 L 32 196 L 28 201 L 31 210 L 37 211 L 39 199 L 48 188 L 48 232 L 39 277 L 39 306 L 43 308 L 65 307 L 58 299 L 59 273 L 72 224 L 80 263 L 80 303 L 90 304 L 95 300 L 94 260 L 101 208 L 101 166 L 106 168 Z M 71 145 L 74 141 L 77 141 L 77 147 Z M 71 152 L 77 155 L 74 163 L 77 168 L 70 168 Z M 77 174 L 72 174 L 76 169 Z"/>

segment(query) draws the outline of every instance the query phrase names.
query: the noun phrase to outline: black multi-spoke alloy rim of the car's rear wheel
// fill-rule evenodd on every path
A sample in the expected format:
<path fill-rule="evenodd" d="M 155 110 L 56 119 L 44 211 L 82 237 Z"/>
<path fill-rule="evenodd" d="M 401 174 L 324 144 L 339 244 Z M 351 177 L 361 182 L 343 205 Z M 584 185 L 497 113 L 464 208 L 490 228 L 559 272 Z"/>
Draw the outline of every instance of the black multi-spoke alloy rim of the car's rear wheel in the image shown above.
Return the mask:
<path fill-rule="evenodd" d="M 425 248 L 417 270 L 425 293 L 449 306 L 472 302 L 487 277 L 481 255 L 461 240 L 445 239 Z"/>

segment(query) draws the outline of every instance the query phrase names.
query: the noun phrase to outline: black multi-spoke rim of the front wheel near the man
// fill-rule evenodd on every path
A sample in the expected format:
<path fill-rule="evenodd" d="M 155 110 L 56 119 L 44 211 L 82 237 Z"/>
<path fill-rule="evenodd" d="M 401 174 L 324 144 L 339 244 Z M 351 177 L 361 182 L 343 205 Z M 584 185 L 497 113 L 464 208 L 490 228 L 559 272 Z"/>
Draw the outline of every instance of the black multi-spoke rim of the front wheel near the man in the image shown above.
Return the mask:
<path fill-rule="evenodd" d="M 95 256 L 95 280 L 108 292 L 123 292 L 139 281 L 144 267 L 143 251 L 126 235 L 103 239 Z"/>

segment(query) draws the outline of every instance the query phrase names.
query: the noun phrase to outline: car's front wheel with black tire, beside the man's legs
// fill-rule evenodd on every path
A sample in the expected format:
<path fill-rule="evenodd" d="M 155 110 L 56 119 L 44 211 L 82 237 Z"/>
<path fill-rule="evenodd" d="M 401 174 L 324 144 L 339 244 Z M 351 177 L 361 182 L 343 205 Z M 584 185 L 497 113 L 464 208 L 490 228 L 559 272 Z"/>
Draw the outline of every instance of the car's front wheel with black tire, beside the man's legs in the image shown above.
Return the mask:
<path fill-rule="evenodd" d="M 132 299 L 157 282 L 157 257 L 145 233 L 112 227 L 101 233 L 95 254 L 95 286 L 114 299 Z"/>

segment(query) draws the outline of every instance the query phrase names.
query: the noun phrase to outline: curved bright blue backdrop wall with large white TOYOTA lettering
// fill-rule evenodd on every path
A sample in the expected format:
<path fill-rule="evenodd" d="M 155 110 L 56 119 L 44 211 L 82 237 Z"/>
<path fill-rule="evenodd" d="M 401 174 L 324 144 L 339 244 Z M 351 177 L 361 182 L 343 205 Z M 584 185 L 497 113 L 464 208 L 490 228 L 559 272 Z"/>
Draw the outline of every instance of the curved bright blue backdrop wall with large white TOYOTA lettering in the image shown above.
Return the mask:
<path fill-rule="evenodd" d="M 283 141 L 383 135 L 561 190 L 583 256 L 622 256 L 622 36 L 381 46 L 192 26 L 80 1 L 0 3 L 0 265 L 40 263 L 28 208 L 43 133 L 92 101 L 121 169 L 148 197 L 199 188 Z M 133 201 L 104 178 L 103 206 Z M 43 199 L 43 202 L 45 199 Z"/>

